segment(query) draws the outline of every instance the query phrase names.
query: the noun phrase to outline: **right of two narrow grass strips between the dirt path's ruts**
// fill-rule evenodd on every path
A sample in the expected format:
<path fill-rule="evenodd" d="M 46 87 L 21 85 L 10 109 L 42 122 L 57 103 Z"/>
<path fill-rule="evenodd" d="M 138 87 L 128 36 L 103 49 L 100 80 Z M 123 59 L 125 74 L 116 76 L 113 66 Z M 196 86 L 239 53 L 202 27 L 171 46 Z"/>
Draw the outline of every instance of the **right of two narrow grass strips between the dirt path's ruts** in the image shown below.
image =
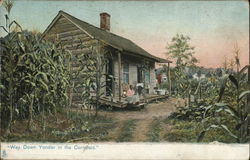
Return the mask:
<path fill-rule="evenodd" d="M 149 126 L 149 130 L 146 134 L 148 137 L 147 141 L 149 142 L 159 142 L 160 136 L 159 133 L 161 131 L 161 121 L 159 119 L 154 119 L 153 122 Z"/>

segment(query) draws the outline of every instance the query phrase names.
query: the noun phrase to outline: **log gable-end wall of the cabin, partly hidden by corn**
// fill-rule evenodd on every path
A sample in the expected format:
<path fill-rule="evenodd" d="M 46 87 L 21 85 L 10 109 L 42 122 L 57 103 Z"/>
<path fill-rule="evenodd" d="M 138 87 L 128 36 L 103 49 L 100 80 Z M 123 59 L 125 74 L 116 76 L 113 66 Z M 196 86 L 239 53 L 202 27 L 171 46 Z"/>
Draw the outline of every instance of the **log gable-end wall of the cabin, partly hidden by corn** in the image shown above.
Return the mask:
<path fill-rule="evenodd" d="M 76 73 L 81 66 L 81 64 L 77 61 L 76 56 L 82 54 L 83 52 L 91 52 L 90 47 L 95 48 L 98 46 L 98 40 L 90 37 L 63 16 L 61 16 L 53 27 L 46 33 L 44 39 L 49 41 L 59 40 L 62 45 L 71 52 L 72 73 Z M 81 48 L 79 47 L 80 44 L 82 44 Z M 74 82 L 74 86 L 77 86 L 77 84 L 81 83 L 81 81 L 81 77 L 78 77 L 76 79 L 72 79 L 71 82 Z M 83 91 L 83 88 L 78 87 L 76 90 L 70 90 L 72 92 L 72 106 L 79 106 L 82 104 L 81 92 Z"/>

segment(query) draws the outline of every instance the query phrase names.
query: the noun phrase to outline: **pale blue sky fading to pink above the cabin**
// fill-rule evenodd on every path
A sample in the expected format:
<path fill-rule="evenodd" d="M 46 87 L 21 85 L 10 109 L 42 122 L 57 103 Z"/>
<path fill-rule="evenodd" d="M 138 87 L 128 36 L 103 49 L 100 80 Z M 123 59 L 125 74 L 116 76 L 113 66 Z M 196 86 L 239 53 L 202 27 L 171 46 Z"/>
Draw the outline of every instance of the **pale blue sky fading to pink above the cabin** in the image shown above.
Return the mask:
<path fill-rule="evenodd" d="M 111 32 L 128 38 L 149 53 L 167 58 L 166 46 L 176 34 L 187 35 L 199 66 L 221 67 L 234 58 L 237 43 L 241 66 L 249 64 L 247 1 L 42 1 L 14 0 L 11 19 L 23 29 L 43 32 L 63 10 L 100 26 L 99 13 L 111 15 Z M 0 25 L 6 11 L 0 7 Z M 0 31 L 0 36 L 4 32 Z"/>

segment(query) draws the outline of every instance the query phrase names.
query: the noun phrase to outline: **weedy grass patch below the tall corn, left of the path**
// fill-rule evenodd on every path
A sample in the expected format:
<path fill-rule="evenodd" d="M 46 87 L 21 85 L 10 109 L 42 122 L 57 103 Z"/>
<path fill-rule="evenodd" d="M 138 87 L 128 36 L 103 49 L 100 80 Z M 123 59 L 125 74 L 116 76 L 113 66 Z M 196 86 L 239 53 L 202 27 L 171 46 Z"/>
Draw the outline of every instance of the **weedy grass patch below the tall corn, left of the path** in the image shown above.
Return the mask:
<path fill-rule="evenodd" d="M 57 117 L 57 118 L 56 118 Z M 33 122 L 32 132 L 26 131 L 27 120 L 16 121 L 12 133 L 0 136 L 2 142 L 76 142 L 103 141 L 116 122 L 106 116 L 88 116 L 84 113 L 58 113 L 56 116 L 46 116 L 46 130 L 42 131 L 41 117 L 37 116 Z M 1 131 L 2 132 L 2 131 Z"/>

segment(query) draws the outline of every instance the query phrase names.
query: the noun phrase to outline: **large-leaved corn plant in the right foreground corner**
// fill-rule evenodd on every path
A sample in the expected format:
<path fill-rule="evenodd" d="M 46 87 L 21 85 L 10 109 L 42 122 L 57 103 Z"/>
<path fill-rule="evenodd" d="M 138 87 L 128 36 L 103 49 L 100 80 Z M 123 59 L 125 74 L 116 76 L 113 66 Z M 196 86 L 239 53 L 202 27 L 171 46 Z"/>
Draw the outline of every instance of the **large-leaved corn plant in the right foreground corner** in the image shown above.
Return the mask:
<path fill-rule="evenodd" d="M 220 119 L 217 120 L 215 124 L 211 124 L 199 134 L 197 141 L 201 141 L 205 133 L 211 129 L 223 129 L 238 143 L 245 143 L 249 141 L 250 104 L 247 103 L 246 98 L 249 96 L 250 90 L 247 89 L 246 74 L 244 74 L 244 71 L 248 68 L 249 66 L 245 66 L 235 75 L 226 74 L 223 77 L 221 80 L 221 87 L 217 103 L 206 108 L 204 118 L 206 118 L 207 113 L 212 112 L 213 116 L 218 115 L 218 117 L 221 117 L 224 115 L 226 121 Z M 229 88 L 230 85 L 228 81 L 234 85 L 234 88 Z M 225 96 L 226 92 L 230 93 L 228 97 Z M 225 122 L 228 122 L 230 118 L 233 119 L 234 126 L 225 124 Z"/>

